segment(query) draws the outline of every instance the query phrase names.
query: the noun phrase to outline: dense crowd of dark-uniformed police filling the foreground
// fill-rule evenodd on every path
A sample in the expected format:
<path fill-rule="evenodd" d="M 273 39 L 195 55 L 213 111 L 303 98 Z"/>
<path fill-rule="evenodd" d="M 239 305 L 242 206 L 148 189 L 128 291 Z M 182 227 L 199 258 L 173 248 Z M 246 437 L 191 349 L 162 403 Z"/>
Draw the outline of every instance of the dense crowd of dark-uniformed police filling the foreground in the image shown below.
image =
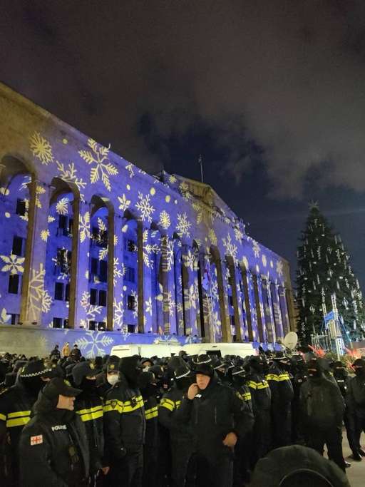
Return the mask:
<path fill-rule="evenodd" d="M 86 360 L 65 344 L 46 359 L 6 353 L 0 485 L 349 486 L 342 429 L 361 461 L 364 359 L 353 371 L 284 352 Z"/>

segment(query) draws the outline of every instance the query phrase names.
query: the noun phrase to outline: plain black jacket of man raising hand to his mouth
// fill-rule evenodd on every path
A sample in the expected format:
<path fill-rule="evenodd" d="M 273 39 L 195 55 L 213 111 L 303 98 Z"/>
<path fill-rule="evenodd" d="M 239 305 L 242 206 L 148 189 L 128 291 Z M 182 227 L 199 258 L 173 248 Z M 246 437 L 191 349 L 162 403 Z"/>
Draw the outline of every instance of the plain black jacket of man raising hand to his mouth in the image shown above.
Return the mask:
<path fill-rule="evenodd" d="M 216 376 L 192 401 L 184 397 L 176 415 L 192 426 L 197 452 L 212 461 L 232 453 L 222 443 L 228 433 L 235 432 L 243 438 L 254 421 L 242 395 L 221 384 Z"/>

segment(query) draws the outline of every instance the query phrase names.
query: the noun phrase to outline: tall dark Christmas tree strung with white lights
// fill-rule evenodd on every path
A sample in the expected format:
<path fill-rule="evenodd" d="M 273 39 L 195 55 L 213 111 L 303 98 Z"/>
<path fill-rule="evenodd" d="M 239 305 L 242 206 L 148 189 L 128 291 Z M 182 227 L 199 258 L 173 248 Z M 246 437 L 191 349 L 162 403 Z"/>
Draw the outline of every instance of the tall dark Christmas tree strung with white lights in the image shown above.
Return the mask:
<path fill-rule="evenodd" d="M 341 237 L 335 235 L 319 212 L 310 206 L 307 225 L 297 250 L 298 334 L 302 344 L 311 343 L 311 334 L 321 334 L 324 316 L 331 312 L 331 296 L 336 307 L 345 344 L 365 335 L 365 314 L 359 281 L 354 276 L 349 254 Z"/>

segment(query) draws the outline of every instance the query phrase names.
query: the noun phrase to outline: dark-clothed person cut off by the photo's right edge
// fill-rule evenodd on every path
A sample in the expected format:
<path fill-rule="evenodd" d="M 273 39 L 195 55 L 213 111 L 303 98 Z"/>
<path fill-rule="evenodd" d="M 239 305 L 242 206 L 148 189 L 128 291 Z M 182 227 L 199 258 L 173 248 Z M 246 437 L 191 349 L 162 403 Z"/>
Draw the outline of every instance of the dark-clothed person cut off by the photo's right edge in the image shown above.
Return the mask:
<path fill-rule="evenodd" d="M 365 451 L 360 446 L 361 432 L 365 431 L 365 360 L 356 359 L 355 376 L 348 384 L 349 421 L 353 431 L 353 458 L 360 461 Z"/>

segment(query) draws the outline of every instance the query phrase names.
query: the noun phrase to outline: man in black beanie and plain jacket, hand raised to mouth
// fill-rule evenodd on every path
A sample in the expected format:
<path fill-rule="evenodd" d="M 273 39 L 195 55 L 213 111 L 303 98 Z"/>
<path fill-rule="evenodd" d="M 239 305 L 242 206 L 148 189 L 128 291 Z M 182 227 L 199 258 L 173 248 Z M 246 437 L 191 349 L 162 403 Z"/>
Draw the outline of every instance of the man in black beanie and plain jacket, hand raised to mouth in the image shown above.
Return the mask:
<path fill-rule="evenodd" d="M 232 487 L 234 448 L 252 428 L 241 394 L 218 381 L 208 355 L 195 362 L 195 379 L 176 416 L 194 432 L 197 486 Z"/>

